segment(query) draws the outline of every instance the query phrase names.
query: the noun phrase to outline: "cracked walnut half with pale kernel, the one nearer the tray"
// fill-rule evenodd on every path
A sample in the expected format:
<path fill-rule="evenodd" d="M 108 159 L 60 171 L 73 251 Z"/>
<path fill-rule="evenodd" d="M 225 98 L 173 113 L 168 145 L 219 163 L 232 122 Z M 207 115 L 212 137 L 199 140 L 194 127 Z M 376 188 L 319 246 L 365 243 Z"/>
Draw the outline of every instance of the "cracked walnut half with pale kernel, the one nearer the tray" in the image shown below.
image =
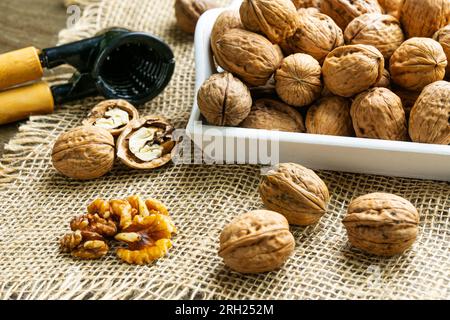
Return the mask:
<path fill-rule="evenodd" d="M 133 169 L 155 169 L 172 159 L 174 128 L 158 116 L 130 122 L 117 140 L 117 158 Z"/>

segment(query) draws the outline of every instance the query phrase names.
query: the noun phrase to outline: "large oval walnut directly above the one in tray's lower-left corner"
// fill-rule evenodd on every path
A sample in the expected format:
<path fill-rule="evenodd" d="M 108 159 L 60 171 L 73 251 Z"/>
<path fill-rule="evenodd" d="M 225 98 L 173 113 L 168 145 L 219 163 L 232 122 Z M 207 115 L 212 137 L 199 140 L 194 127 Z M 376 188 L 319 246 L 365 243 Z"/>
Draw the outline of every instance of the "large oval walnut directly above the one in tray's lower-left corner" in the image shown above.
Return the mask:
<path fill-rule="evenodd" d="M 242 29 L 225 31 L 214 46 L 217 63 L 251 86 L 265 85 L 283 59 L 279 46 Z"/>

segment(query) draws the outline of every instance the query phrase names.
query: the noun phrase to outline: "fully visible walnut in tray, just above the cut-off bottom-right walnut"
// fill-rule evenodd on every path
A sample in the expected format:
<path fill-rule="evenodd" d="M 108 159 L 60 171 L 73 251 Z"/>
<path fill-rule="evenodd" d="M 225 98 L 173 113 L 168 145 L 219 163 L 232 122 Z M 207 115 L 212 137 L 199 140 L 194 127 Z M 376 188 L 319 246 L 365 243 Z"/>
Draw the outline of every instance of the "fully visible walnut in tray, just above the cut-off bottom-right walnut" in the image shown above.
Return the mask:
<path fill-rule="evenodd" d="M 439 42 L 429 38 L 405 41 L 391 57 L 392 80 L 399 86 L 420 91 L 425 86 L 444 79 L 447 57 Z"/>

